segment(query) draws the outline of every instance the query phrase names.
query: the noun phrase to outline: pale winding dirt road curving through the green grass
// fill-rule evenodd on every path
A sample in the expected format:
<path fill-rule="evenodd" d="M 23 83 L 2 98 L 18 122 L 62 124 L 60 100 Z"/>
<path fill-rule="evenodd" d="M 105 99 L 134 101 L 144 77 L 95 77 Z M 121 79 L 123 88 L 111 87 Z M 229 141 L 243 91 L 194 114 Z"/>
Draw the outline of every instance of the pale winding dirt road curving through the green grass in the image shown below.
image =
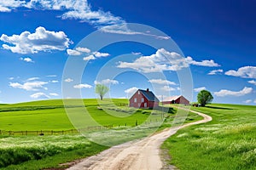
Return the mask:
<path fill-rule="evenodd" d="M 182 109 L 182 108 L 180 108 Z M 191 111 L 204 119 L 197 122 L 190 122 L 180 127 L 171 127 L 160 133 L 156 133 L 148 138 L 139 141 L 128 142 L 113 146 L 102 151 L 96 156 L 90 156 L 83 161 L 68 168 L 69 170 L 158 170 L 164 165 L 160 158 L 160 145 L 178 129 L 190 125 L 212 121 L 211 116 L 207 116 L 198 111 Z"/>

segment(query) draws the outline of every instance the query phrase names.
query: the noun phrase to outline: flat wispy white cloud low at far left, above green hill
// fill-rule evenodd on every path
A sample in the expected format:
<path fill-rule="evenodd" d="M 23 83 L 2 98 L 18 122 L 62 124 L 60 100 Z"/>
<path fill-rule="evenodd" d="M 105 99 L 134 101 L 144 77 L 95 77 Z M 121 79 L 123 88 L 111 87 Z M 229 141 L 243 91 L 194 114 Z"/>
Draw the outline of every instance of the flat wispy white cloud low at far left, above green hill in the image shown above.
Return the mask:
<path fill-rule="evenodd" d="M 44 88 L 44 85 L 48 82 L 25 82 L 24 84 L 20 84 L 19 82 L 9 82 L 9 86 L 12 88 L 20 88 L 26 91 L 38 91 L 41 88 Z M 44 88 L 47 89 L 47 88 Z"/>

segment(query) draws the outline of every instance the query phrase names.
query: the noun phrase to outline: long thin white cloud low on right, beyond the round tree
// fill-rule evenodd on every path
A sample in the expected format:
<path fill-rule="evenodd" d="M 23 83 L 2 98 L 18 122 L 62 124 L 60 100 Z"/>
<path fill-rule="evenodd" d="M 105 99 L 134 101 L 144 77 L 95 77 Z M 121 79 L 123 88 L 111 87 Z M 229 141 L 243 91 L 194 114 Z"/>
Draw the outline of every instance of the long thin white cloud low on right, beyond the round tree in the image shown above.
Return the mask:
<path fill-rule="evenodd" d="M 214 92 L 214 94 L 217 95 L 218 97 L 224 97 L 224 96 L 243 96 L 246 94 L 251 94 L 252 92 L 253 92 L 253 88 L 245 87 L 238 92 L 222 89 L 219 92 Z"/>

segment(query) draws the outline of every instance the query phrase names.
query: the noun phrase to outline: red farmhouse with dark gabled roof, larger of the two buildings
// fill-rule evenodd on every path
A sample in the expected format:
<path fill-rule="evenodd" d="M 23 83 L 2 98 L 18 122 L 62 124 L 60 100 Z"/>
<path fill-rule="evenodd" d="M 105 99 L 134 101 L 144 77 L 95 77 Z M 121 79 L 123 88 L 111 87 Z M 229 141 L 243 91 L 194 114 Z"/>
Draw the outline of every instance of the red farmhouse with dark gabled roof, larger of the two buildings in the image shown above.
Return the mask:
<path fill-rule="evenodd" d="M 159 104 L 159 99 L 148 90 L 138 89 L 135 94 L 131 96 L 130 107 L 136 108 L 153 108 L 157 107 Z"/>

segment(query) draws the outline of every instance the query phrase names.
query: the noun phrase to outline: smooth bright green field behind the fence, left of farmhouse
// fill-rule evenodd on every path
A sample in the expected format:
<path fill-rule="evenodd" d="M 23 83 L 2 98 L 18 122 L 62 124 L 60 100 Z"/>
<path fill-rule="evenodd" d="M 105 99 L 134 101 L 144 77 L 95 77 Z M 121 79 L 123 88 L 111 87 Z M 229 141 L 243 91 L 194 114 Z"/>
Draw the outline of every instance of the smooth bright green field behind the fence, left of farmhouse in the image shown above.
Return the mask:
<path fill-rule="evenodd" d="M 135 123 L 144 122 L 150 111 L 132 110 L 128 108 L 127 99 L 113 99 L 114 105 L 108 107 L 111 101 L 105 99 L 100 105 L 108 110 L 108 113 L 99 110 L 96 99 L 84 99 L 86 110 L 96 122 L 102 126 L 135 126 Z M 79 112 L 84 105 L 77 105 L 76 100 L 70 99 L 67 109 L 73 114 Z M 122 104 L 122 105 L 121 105 Z M 121 105 L 121 106 L 119 106 Z M 113 108 L 114 107 L 114 108 Z M 129 112 L 131 110 L 131 112 Z M 144 114 L 142 114 L 144 113 Z M 79 119 L 79 117 L 78 117 Z M 152 121 L 160 121 L 160 115 L 153 116 Z M 7 131 L 39 131 L 39 130 L 68 130 L 73 129 L 69 121 L 62 100 L 43 100 L 15 105 L 0 105 L 0 130 Z M 93 126 L 90 122 L 83 120 L 84 127 Z"/>

